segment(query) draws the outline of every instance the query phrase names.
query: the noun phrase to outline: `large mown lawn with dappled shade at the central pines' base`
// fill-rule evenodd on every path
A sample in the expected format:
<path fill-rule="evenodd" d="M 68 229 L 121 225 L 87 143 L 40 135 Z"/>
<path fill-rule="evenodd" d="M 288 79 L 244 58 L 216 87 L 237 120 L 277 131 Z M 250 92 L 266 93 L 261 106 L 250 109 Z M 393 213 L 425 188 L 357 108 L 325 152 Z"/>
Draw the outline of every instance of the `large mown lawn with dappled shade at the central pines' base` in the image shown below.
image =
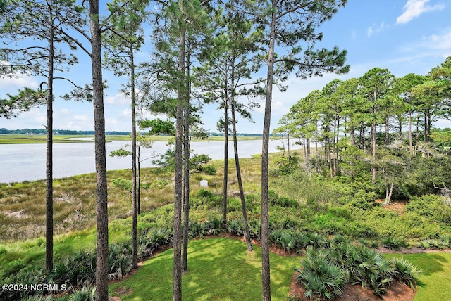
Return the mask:
<path fill-rule="evenodd" d="M 286 300 L 292 267 L 300 257 L 271 254 L 271 295 Z M 121 300 L 172 300 L 173 250 L 145 262 L 133 276 L 109 286 L 110 295 Z M 261 248 L 231 238 L 190 241 L 188 271 L 182 278 L 183 300 L 261 299 Z M 122 293 L 118 293 L 122 292 Z"/>

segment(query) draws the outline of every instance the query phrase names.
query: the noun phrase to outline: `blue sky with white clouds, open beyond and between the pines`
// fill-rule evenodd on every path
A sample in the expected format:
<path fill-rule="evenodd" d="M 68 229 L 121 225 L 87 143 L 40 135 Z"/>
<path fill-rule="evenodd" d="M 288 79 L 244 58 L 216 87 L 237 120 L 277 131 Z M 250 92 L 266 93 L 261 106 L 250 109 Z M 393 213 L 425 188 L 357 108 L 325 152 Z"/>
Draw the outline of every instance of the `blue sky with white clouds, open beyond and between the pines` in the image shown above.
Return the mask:
<path fill-rule="evenodd" d="M 104 2 L 104 1 L 101 1 Z M 103 3 L 104 4 L 104 3 Z M 102 7 L 101 7 L 102 8 Z M 103 5 L 103 8 L 105 6 Z M 347 75 L 326 74 L 323 77 L 299 79 L 290 75 L 285 92 L 273 89 L 271 107 L 271 130 L 288 110 L 314 89 L 322 89 L 335 78 L 350 79 L 361 77 L 372 68 L 387 68 L 395 77 L 409 73 L 427 75 L 432 68 L 451 56 L 451 0 L 348 0 L 345 8 L 340 8 L 331 20 L 323 23 L 318 31 L 323 32 L 323 40 L 317 48 L 328 49 L 338 46 L 347 50 L 346 64 L 351 69 Z M 147 44 L 151 44 L 147 37 Z M 148 53 L 140 53 L 146 58 Z M 90 62 L 86 55 L 78 55 L 79 64 L 66 75 L 76 82 L 85 84 L 91 77 Z M 266 74 L 266 68 L 261 70 Z M 106 131 L 131 131 L 130 98 L 118 89 L 124 78 L 114 77 L 104 71 L 104 79 L 109 88 L 105 91 Z M 85 82 L 83 82 L 85 81 Z M 21 87 L 38 87 L 42 79 L 18 77 L 0 79 L 0 97 L 14 94 Z M 54 129 L 94 130 L 92 103 L 63 101 L 58 96 L 67 92 L 67 85 L 55 83 Z M 261 133 L 264 118 L 264 100 L 261 107 L 254 109 L 254 123 L 240 120 L 237 132 Z M 207 132 L 218 132 L 216 122 L 221 112 L 217 105 L 204 107 L 202 121 Z M 0 128 L 43 129 L 47 120 L 46 108 L 32 108 L 16 118 L 0 118 Z M 146 117 L 154 118 L 152 115 Z M 159 116 L 161 117 L 161 116 Z M 451 127 L 451 122 L 439 120 L 435 127 Z"/>

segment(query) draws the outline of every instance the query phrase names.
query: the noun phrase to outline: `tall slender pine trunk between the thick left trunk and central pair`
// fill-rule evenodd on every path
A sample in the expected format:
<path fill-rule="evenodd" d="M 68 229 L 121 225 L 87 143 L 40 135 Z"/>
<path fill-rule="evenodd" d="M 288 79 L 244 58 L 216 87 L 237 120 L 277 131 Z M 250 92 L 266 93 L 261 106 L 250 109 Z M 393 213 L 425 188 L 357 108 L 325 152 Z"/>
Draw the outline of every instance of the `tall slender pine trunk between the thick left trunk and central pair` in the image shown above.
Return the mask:
<path fill-rule="evenodd" d="M 135 101 L 135 59 L 130 46 L 130 81 L 132 96 L 132 266 L 138 267 L 137 247 L 137 179 L 136 179 L 136 101 Z"/>

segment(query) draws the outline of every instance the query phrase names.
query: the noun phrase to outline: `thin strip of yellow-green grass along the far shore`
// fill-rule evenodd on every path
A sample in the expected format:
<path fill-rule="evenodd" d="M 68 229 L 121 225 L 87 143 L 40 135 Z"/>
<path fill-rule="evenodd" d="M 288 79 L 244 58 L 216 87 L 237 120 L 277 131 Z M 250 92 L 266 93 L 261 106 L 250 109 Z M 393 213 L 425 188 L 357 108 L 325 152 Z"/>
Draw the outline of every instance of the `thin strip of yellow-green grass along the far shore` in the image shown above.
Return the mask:
<path fill-rule="evenodd" d="M 168 141 L 171 136 L 150 136 L 152 141 Z M 94 142 L 94 135 L 54 135 L 54 143 Z M 232 137 L 230 137 L 231 141 Z M 238 140 L 261 140 L 259 136 L 238 136 Z M 106 135 L 106 141 L 130 141 L 128 135 Z M 192 139 L 192 141 L 204 141 Z M 208 141 L 224 141 L 223 136 L 209 136 Z M 45 135 L 0 134 L 0 144 L 46 143 Z"/>

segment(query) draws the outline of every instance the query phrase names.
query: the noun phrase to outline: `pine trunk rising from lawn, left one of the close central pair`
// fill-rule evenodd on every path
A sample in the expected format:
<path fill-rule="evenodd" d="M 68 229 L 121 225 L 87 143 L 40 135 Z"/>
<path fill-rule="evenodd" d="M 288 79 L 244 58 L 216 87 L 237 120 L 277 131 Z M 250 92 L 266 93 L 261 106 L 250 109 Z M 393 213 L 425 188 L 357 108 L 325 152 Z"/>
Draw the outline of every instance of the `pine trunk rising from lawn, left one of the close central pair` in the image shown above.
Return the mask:
<path fill-rule="evenodd" d="M 179 1 L 180 13 L 183 15 L 183 0 Z M 180 21 L 183 23 L 183 21 Z M 174 257 L 173 257 L 173 300 L 182 300 L 182 123 L 183 100 L 185 97 L 185 25 L 180 26 L 178 41 L 178 91 L 177 113 L 175 116 L 175 175 L 174 175 Z"/>

